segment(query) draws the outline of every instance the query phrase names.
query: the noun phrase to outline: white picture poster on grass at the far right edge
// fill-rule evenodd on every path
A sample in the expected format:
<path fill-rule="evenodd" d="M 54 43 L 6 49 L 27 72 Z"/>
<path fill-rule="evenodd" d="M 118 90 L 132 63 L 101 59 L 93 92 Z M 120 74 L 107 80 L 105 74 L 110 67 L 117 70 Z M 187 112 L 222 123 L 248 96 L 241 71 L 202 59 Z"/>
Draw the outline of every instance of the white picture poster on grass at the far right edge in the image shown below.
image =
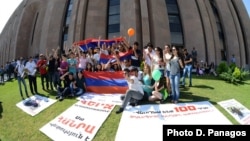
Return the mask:
<path fill-rule="evenodd" d="M 250 111 L 235 99 L 218 102 L 240 124 L 250 124 Z"/>

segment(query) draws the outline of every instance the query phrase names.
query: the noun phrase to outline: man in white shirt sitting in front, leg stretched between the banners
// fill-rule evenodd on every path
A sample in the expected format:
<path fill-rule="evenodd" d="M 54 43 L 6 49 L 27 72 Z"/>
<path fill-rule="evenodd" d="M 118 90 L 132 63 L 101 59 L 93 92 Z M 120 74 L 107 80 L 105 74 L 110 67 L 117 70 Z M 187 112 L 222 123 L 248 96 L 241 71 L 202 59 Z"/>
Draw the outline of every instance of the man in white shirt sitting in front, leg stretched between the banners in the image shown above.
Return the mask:
<path fill-rule="evenodd" d="M 133 68 L 131 72 L 135 72 L 137 68 Z M 138 71 L 138 70 L 137 70 Z M 137 76 L 133 74 L 129 74 L 129 69 L 124 69 L 124 77 L 128 82 L 129 89 L 126 91 L 125 98 L 123 100 L 122 106 L 118 111 L 116 111 L 116 114 L 122 113 L 123 110 L 126 108 L 128 103 L 131 101 L 131 99 L 135 100 L 141 100 L 143 98 L 144 92 L 142 89 L 142 84 L 138 80 Z"/>

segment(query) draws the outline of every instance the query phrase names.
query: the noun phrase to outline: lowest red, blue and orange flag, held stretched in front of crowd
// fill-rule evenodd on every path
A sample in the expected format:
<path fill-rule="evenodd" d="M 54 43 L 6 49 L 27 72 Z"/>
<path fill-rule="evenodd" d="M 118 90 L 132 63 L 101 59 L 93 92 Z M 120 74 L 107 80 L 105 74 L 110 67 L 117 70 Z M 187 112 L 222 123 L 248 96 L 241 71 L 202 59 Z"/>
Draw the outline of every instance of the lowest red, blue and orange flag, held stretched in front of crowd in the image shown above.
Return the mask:
<path fill-rule="evenodd" d="M 84 72 L 86 89 L 98 94 L 121 93 L 128 89 L 123 72 Z"/>

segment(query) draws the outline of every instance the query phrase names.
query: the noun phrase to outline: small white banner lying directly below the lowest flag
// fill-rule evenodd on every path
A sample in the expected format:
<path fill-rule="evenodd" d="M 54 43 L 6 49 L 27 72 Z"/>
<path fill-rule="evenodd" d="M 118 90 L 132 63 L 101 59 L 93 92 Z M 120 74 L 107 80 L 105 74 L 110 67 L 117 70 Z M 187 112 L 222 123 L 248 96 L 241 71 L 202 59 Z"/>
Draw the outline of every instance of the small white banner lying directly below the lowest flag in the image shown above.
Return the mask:
<path fill-rule="evenodd" d="M 94 100 L 97 102 L 122 105 L 121 96 L 124 94 L 96 94 L 87 92 L 79 97 L 77 100 Z"/>

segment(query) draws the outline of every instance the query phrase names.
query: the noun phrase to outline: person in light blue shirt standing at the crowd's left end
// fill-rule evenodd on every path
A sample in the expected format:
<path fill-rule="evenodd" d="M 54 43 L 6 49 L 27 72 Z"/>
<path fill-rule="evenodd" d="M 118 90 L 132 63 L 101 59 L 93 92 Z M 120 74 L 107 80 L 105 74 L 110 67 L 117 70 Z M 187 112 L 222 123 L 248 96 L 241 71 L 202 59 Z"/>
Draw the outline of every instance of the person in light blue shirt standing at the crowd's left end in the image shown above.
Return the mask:
<path fill-rule="evenodd" d="M 17 60 L 17 65 L 16 65 L 14 71 L 17 74 L 17 81 L 18 81 L 20 95 L 21 95 L 22 99 L 24 100 L 23 92 L 22 92 L 22 84 L 23 84 L 24 91 L 25 91 L 27 98 L 29 97 L 29 95 L 28 95 L 28 91 L 27 91 L 27 85 L 26 85 L 26 82 L 24 79 L 25 78 L 25 67 L 24 67 L 24 62 L 22 61 L 22 57 L 20 57 L 20 59 Z"/>

